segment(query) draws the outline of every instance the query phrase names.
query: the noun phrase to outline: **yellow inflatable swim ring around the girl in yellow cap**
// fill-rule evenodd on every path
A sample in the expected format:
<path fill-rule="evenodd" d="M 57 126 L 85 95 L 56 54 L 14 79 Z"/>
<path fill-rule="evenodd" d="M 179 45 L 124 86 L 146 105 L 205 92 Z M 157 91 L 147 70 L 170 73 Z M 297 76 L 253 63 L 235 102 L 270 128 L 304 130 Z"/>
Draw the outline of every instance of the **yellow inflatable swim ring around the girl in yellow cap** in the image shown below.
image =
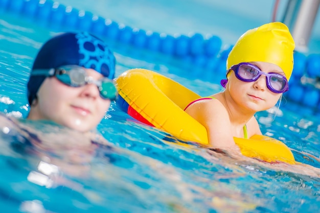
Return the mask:
<path fill-rule="evenodd" d="M 130 107 L 128 114 L 173 136 L 208 145 L 204 126 L 184 109 L 198 94 L 161 74 L 147 69 L 130 69 L 116 79 L 120 99 Z M 249 139 L 234 137 L 241 153 L 266 162 L 294 164 L 290 149 L 281 141 L 263 135 Z"/>

